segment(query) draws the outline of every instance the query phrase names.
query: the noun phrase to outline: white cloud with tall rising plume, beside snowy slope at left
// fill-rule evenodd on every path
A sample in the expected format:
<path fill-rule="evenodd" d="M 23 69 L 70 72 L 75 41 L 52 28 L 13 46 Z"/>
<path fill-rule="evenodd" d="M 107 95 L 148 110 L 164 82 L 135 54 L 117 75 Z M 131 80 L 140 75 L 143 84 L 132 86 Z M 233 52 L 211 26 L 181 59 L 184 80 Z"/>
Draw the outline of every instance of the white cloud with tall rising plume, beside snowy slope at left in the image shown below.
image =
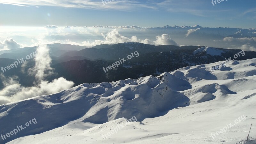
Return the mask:
<path fill-rule="evenodd" d="M 67 81 L 62 77 L 52 82 L 44 80 L 45 76 L 53 73 L 53 69 L 50 67 L 52 60 L 49 57 L 49 49 L 46 46 L 39 46 L 37 48 L 37 55 L 34 60 L 36 64 L 29 71 L 35 74 L 37 80 L 37 82 L 34 82 L 35 86 L 23 87 L 19 84 L 17 76 L 5 77 L 3 74 L 0 75 L 4 84 L 4 89 L 0 91 L 0 104 L 57 93 L 74 85 L 72 81 Z"/>

